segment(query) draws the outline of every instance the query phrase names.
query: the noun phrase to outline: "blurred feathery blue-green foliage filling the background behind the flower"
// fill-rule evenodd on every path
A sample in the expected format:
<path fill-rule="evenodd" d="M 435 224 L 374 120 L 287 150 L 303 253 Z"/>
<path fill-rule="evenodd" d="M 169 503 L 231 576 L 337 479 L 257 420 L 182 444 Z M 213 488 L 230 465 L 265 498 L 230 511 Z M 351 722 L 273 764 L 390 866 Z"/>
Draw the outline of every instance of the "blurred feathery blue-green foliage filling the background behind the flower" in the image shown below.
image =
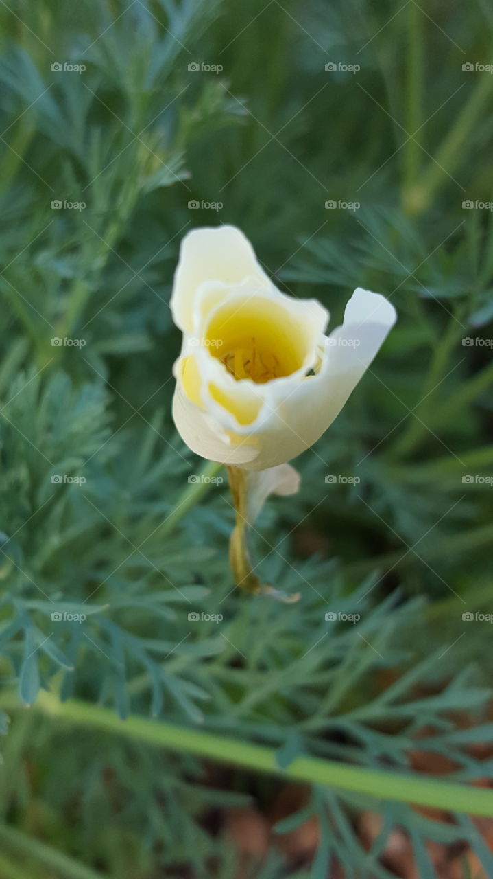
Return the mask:
<path fill-rule="evenodd" d="M 385 855 L 397 825 L 413 875 L 493 875 L 465 815 L 318 786 L 286 805 L 282 781 L 91 720 L 100 702 L 284 765 L 491 778 L 490 628 L 462 619 L 491 596 L 492 214 L 463 207 L 493 198 L 493 77 L 463 69 L 492 61 L 488 4 L 9 0 L 0 25 L 0 875 L 408 875 Z M 179 243 L 221 222 L 332 326 L 356 286 L 399 315 L 298 459 L 299 495 L 257 523 L 262 576 L 294 606 L 232 589 L 226 485 L 189 483 L 202 464 L 170 417 Z M 85 725 L 40 688 L 84 701 Z M 235 815 L 260 822 L 240 864 Z M 297 827 L 311 844 L 282 846 Z"/>

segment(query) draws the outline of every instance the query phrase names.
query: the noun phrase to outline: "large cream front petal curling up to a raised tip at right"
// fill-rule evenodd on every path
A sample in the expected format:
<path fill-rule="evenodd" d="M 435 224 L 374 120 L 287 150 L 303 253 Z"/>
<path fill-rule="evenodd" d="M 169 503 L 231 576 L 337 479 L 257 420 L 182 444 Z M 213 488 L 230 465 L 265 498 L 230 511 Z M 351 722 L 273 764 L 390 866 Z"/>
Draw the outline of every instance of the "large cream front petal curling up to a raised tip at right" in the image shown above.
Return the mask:
<path fill-rule="evenodd" d="M 212 309 L 212 316 L 217 313 Z M 314 374 L 298 369 L 264 384 L 236 381 L 202 347 L 196 357 L 182 357 L 175 367 L 174 401 L 182 439 L 196 454 L 251 471 L 290 461 L 339 415 L 396 317 L 383 296 L 358 287 L 347 302 L 343 325 L 329 338 L 314 334 Z"/>

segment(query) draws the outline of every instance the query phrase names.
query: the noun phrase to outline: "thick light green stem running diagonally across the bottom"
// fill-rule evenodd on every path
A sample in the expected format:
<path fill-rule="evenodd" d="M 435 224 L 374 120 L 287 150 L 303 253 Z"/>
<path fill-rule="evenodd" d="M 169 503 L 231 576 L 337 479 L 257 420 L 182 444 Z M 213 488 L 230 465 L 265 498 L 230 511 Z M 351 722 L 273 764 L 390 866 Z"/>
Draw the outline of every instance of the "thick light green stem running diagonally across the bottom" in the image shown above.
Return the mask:
<path fill-rule="evenodd" d="M 297 757 L 281 769 L 274 748 L 254 745 L 236 738 L 218 736 L 207 730 L 192 730 L 156 723 L 146 717 L 132 716 L 121 721 L 108 708 L 89 705 L 83 701 L 61 703 L 53 694 L 42 692 L 32 708 L 23 708 L 15 696 L 0 702 L 2 707 L 20 711 L 39 710 L 52 716 L 56 723 L 68 721 L 82 727 L 123 736 L 148 745 L 171 748 L 177 752 L 196 754 L 198 757 L 244 766 L 255 772 L 288 777 L 311 784 L 326 784 L 340 790 L 358 791 L 378 799 L 418 803 L 435 809 L 466 812 L 471 815 L 493 815 L 493 793 L 485 788 L 465 784 L 418 778 L 394 772 L 382 772 L 362 766 L 347 766 L 318 757 Z M 41 845 L 41 844 L 39 844 Z M 94 879 L 94 875 L 80 875 L 80 879 Z"/>

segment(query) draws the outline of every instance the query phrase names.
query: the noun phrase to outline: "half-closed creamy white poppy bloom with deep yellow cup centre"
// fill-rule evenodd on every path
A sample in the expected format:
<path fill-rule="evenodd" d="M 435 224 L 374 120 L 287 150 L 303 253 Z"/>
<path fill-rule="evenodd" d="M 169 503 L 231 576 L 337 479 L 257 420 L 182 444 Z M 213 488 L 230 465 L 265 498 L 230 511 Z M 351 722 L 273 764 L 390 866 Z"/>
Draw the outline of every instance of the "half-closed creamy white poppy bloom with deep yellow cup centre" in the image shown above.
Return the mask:
<path fill-rule="evenodd" d="M 171 309 L 183 332 L 175 425 L 196 454 L 247 470 L 311 447 L 396 321 L 389 301 L 358 287 L 325 336 L 326 309 L 281 293 L 233 226 L 183 238 Z"/>

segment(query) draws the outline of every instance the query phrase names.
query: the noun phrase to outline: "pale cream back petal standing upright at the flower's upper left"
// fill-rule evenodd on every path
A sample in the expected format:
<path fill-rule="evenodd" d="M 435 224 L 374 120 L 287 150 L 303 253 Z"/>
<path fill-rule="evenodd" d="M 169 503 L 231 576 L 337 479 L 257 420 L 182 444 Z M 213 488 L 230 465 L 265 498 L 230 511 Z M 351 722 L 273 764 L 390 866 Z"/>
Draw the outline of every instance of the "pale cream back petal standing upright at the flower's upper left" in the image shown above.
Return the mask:
<path fill-rule="evenodd" d="M 196 291 L 205 281 L 240 284 L 247 277 L 267 287 L 267 274 L 247 237 L 234 226 L 193 229 L 182 239 L 170 307 L 176 326 L 193 332 Z"/>

